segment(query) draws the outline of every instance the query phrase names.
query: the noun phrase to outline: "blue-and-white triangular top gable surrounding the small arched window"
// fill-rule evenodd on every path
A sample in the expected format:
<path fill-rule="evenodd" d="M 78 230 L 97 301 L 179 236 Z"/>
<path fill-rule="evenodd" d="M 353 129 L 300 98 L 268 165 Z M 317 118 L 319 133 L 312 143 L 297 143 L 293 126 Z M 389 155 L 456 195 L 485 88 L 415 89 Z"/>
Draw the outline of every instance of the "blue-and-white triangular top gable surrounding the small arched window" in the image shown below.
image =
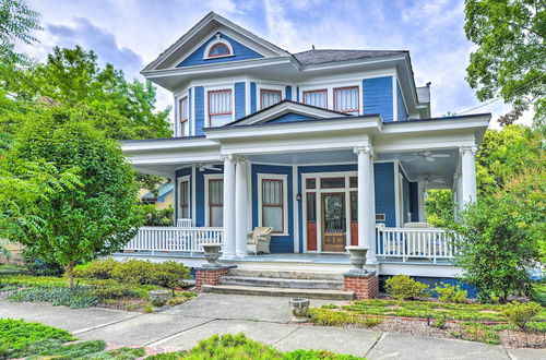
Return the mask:
<path fill-rule="evenodd" d="M 224 49 L 228 49 L 229 52 L 223 52 L 222 47 L 215 52 L 212 48 L 216 44 L 226 45 Z M 213 51 L 210 52 L 211 50 Z M 147 64 L 143 72 L 289 56 L 275 45 L 215 12 L 210 12 L 157 59 Z"/>

